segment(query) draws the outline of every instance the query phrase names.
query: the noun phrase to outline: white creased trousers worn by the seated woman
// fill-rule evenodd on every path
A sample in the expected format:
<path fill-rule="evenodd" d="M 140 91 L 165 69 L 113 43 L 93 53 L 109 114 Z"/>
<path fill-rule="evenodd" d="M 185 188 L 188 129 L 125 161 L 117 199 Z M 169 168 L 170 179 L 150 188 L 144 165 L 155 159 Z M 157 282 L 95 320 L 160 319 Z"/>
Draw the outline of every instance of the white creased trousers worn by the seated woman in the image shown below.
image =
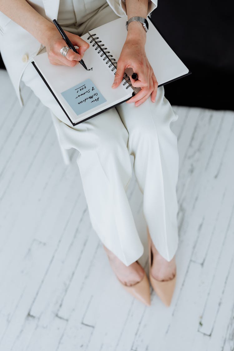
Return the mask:
<path fill-rule="evenodd" d="M 82 24 L 83 33 L 116 18 L 108 5 L 102 6 Z M 33 65 L 27 66 L 22 80 L 57 117 L 61 144 L 79 151 L 77 164 L 89 216 L 102 243 L 126 266 L 143 253 L 126 195 L 133 155 L 149 232 L 156 249 L 170 261 L 178 247 L 179 168 L 177 138 L 170 123 L 178 115 L 164 88 L 158 88 L 155 102 L 149 97 L 139 107 L 123 103 L 73 127 Z"/>

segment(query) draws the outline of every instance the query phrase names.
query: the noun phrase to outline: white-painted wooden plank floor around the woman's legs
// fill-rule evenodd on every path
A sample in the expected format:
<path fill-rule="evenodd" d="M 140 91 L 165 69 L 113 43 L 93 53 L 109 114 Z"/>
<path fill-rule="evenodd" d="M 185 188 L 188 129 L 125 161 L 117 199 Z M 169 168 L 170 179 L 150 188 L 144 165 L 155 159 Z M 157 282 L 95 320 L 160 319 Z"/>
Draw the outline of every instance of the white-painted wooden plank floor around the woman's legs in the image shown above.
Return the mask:
<path fill-rule="evenodd" d="M 47 109 L 23 95 L 0 71 L 0 351 L 233 351 L 234 112 L 173 106 L 178 280 L 169 308 L 153 291 L 147 307 L 91 227 L 76 153 L 65 166 Z M 134 173 L 127 193 L 148 273 Z"/>

